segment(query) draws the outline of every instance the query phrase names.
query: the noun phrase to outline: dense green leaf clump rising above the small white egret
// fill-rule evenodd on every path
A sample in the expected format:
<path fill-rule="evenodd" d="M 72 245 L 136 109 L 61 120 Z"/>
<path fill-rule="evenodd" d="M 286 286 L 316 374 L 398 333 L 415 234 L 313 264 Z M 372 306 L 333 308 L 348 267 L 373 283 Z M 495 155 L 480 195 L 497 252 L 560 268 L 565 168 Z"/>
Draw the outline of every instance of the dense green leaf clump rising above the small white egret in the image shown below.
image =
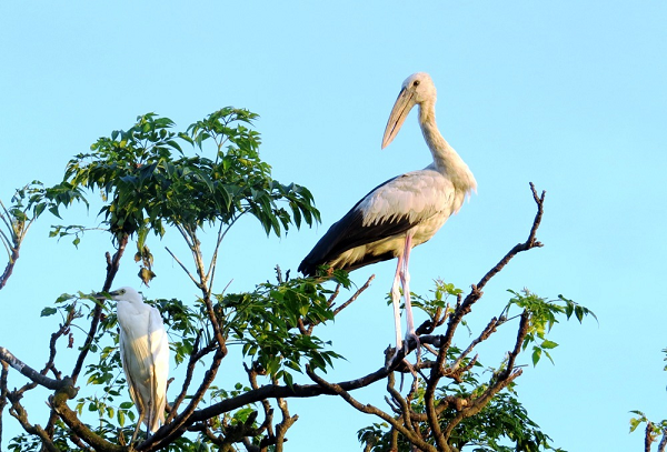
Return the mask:
<path fill-rule="evenodd" d="M 311 193 L 273 180 L 270 165 L 260 160 L 259 133 L 245 125 L 256 117 L 228 107 L 186 132 L 172 131 L 169 118 L 138 117 L 130 129 L 100 138 L 91 152 L 69 161 L 62 185 L 71 190 L 60 194 L 62 202 L 81 198 L 82 188 L 99 191 L 100 214 L 116 235 L 151 230 L 161 237 L 167 225 L 230 224 L 243 213 L 277 235 L 292 219 L 297 227 L 319 221 Z M 202 150 L 209 141 L 213 159 L 188 155 L 181 147 Z"/>

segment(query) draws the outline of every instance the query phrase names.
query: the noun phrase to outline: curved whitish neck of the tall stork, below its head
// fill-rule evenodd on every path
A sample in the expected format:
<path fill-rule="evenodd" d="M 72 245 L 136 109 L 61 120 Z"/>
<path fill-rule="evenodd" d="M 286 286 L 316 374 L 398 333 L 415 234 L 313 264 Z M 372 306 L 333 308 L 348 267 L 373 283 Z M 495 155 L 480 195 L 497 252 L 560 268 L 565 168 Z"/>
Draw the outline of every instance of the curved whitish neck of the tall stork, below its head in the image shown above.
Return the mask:
<path fill-rule="evenodd" d="M 419 125 L 434 157 L 436 170 L 448 177 L 462 193 L 477 190 L 472 172 L 438 130 L 435 103 L 425 102 L 419 106 Z"/>

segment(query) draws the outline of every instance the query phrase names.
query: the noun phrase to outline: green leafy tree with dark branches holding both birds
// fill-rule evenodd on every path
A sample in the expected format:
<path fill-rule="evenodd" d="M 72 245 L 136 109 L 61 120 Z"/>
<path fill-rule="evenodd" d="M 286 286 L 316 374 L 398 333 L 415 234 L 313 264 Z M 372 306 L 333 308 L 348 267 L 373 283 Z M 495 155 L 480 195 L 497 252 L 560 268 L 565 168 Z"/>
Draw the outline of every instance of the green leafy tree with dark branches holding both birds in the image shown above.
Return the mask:
<path fill-rule="evenodd" d="M 536 233 L 544 192 L 539 195 L 531 187 L 537 215 L 528 239 L 469 293 L 437 281 L 431 295 L 415 294 L 416 308 L 428 315 L 417 330 L 422 345 L 417 361 L 399 359 L 370 374 L 329 382 L 322 374 L 341 354 L 318 338 L 318 328 L 349 308 L 371 280 L 352 292 L 345 272 L 335 271 L 328 280 L 300 279 L 277 268 L 275 282 L 258 283 L 252 291 L 213 290 L 220 244 L 239 218 L 253 218 L 268 235 L 310 227 L 320 218 L 305 187 L 271 177 L 270 165 L 259 157 L 256 119 L 247 110 L 225 108 L 177 131 L 168 118 L 141 115 L 128 130 L 112 131 L 89 152 L 74 155 L 60 183 L 44 188 L 33 182 L 18 190 L 9 207 L 1 205 L 0 239 L 9 270 L 0 288 L 11 275 L 30 224 L 44 212 L 62 219 L 76 202 L 87 207 L 101 202 L 102 223 L 97 229 L 109 234 L 113 247 L 103 261 L 102 291 L 115 283 L 130 243 L 136 245 L 133 259 L 141 264 L 139 277 L 149 284 L 156 258 L 148 244 L 175 232 L 187 245 L 189 259 L 167 250 L 193 288 L 190 300 L 147 300 L 162 313 L 175 364 L 181 370 L 171 382 L 167 420 L 158 432 L 127 444 L 137 416 L 120 371 L 115 304 L 78 292 L 62 294 L 41 312 L 54 325 L 43 369 L 36 370 L 34 363 L 0 346 L 0 428 L 7 408 L 24 431 L 11 439 L 10 450 L 230 451 L 243 446 L 250 452 L 281 451 L 298 419 L 290 413 L 289 399 L 325 394 L 337 394 L 350 409 L 377 416 L 378 422 L 359 431 L 367 451 L 558 450 L 518 400 L 516 379 L 522 368 L 517 358 L 530 350 L 534 365 L 542 355 L 552 361 L 550 351 L 557 344 L 547 338 L 550 329 L 559 319 L 574 315 L 581 321 L 591 312 L 561 295 L 548 300 L 527 290 L 510 291 L 499 317 L 481 331 L 471 331 L 468 341 L 459 337 L 455 341 L 487 282 L 517 253 L 541 247 Z M 79 244 L 89 229 L 56 225 L 51 235 L 72 237 Z M 202 234 L 213 238 L 206 250 Z M 342 302 L 341 293 L 349 294 Z M 482 366 L 474 354 L 477 345 L 506 328 L 517 331 L 510 351 Z M 82 338 L 76 335 L 78 331 Z M 74 344 L 77 361 L 64 371 L 58 350 Z M 231 361 L 231 345 L 240 350 L 239 362 Z M 390 356 L 392 351 L 387 353 Z M 220 386 L 216 375 L 222 362 L 242 368 L 246 381 Z M 10 366 L 30 383 L 10 390 Z M 411 379 L 406 391 L 397 388 L 397 375 Z M 355 399 L 355 390 L 371 384 L 387 385 L 388 408 Z M 38 386 L 51 391 L 50 414 L 43 422 L 29 418 L 23 402 Z"/>

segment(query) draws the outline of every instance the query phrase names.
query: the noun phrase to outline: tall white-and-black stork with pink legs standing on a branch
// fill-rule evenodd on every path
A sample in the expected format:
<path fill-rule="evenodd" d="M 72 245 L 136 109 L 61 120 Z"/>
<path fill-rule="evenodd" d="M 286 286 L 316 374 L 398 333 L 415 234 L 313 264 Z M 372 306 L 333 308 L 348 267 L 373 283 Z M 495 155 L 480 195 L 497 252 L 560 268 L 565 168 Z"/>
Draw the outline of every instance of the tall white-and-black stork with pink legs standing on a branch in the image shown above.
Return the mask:
<path fill-rule="evenodd" d="M 378 185 L 334 223 L 299 265 L 306 275 L 315 275 L 318 265 L 352 271 L 371 263 L 398 258 L 391 300 L 396 322 L 396 353 L 401 345 L 400 291 L 406 305 L 410 340 L 415 333 L 410 304 L 410 250 L 427 242 L 457 213 L 466 195 L 477 189 L 468 165 L 442 138 L 436 125 L 436 87 L 425 72 L 404 81 L 394 104 L 385 135 L 385 149 L 397 135 L 412 107 L 419 106 L 419 125 L 434 161 L 424 170 L 407 172 Z M 396 356 L 395 353 L 395 356 Z"/>

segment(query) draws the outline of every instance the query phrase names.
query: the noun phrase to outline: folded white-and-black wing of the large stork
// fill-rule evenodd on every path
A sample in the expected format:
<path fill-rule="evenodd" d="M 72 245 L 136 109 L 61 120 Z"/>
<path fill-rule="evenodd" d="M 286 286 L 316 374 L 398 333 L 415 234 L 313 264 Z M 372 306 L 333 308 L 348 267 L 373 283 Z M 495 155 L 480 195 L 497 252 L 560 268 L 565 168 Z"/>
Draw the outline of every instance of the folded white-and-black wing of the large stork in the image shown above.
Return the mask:
<path fill-rule="evenodd" d="M 334 223 L 299 265 L 306 275 L 317 267 L 335 261 L 356 247 L 405 234 L 425 219 L 441 212 L 448 201 L 450 183 L 437 171 L 414 171 L 390 179 L 364 197 L 345 217 Z M 395 251 L 366 254 L 345 270 L 394 258 Z"/>

